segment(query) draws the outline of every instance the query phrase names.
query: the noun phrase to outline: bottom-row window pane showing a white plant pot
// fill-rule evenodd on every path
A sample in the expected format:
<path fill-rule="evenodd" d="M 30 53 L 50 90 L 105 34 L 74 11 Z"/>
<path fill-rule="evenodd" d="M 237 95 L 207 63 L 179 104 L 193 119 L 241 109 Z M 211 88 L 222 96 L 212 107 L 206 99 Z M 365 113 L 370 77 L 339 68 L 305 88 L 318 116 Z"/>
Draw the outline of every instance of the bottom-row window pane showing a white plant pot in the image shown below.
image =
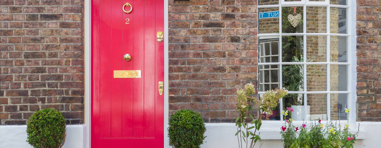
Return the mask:
<path fill-rule="evenodd" d="M 301 93 L 290 93 L 283 97 L 283 111 L 287 110 L 287 107 L 291 107 L 294 111 L 291 114 L 283 117 L 285 119 L 292 118 L 295 121 L 303 121 L 304 120 L 304 95 Z M 304 120 L 306 121 L 306 120 Z"/>

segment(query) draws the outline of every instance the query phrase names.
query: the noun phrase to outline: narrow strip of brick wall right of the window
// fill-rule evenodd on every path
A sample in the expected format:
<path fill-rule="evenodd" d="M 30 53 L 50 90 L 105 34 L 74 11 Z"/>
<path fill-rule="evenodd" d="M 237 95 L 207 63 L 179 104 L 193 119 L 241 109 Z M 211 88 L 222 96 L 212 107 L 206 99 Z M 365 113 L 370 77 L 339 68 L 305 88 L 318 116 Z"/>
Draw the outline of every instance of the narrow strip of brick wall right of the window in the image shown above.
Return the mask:
<path fill-rule="evenodd" d="M 357 0 L 357 120 L 381 121 L 381 2 Z"/>

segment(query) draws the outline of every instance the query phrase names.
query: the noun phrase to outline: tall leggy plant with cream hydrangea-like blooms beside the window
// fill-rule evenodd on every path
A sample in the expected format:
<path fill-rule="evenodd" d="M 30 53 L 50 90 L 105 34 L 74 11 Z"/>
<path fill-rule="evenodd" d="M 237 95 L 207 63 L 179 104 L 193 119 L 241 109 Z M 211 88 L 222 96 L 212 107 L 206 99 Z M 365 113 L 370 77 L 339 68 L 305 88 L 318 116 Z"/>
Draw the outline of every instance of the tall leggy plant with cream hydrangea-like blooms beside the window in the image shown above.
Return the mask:
<path fill-rule="evenodd" d="M 239 148 L 253 148 L 255 143 L 261 140 L 256 131 L 261 128 L 262 116 L 264 114 L 272 115 L 272 108 L 278 105 L 280 98 L 287 94 L 287 90 L 269 90 L 260 99 L 253 97 L 254 93 L 254 85 L 251 83 L 246 84 L 243 89 L 237 90 L 238 117 L 235 119 L 235 126 L 237 126 L 235 136 L 237 136 Z M 256 117 L 253 114 L 253 107 L 258 107 L 258 116 Z M 254 126 L 252 126 L 253 124 Z M 251 129 L 254 129 L 254 132 Z M 246 146 L 243 142 L 246 143 Z"/>

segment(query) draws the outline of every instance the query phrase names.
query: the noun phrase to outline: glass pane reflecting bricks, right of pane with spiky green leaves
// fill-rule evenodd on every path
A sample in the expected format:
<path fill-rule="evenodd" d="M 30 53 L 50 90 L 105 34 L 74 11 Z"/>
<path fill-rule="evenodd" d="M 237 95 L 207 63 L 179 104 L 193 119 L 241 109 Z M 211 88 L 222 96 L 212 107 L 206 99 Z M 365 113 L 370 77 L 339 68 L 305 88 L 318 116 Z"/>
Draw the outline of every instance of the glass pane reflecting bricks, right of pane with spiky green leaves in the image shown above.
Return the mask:
<path fill-rule="evenodd" d="M 307 65 L 307 91 L 327 90 L 327 65 Z"/>

